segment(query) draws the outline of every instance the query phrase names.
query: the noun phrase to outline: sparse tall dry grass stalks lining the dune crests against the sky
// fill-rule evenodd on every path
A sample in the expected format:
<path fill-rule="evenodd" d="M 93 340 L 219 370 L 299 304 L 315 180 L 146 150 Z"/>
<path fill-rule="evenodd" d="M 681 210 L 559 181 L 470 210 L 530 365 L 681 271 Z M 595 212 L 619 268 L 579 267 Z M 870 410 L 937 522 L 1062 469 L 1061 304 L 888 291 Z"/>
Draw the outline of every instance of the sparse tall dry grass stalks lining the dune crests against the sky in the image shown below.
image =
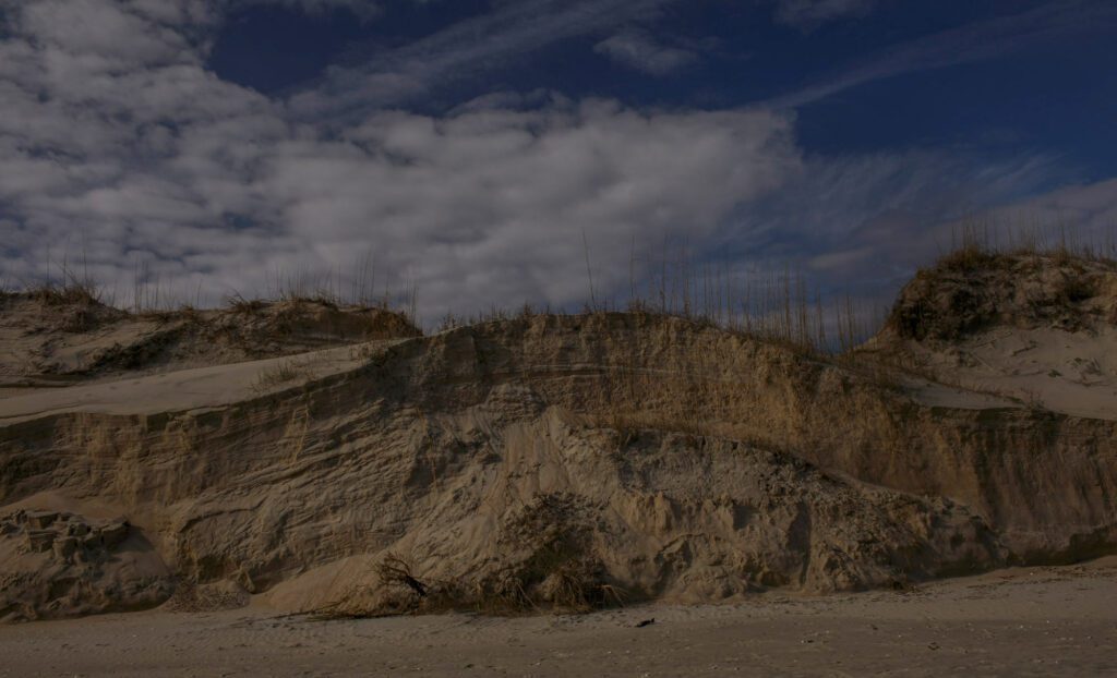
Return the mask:
<path fill-rule="evenodd" d="M 534 315 L 620 312 L 680 317 L 700 325 L 716 326 L 762 341 L 784 345 L 819 357 L 846 356 L 875 335 L 889 316 L 889 308 L 867 305 L 849 294 L 823 290 L 801 269 L 783 266 L 741 268 L 728 262 L 696 260 L 685 241 L 663 241 L 658 251 L 646 247 L 637 257 L 633 240 L 629 260 L 629 285 L 608 294 L 600 288 L 592 266 L 590 243 L 583 236 L 588 299 L 581 307 L 524 304 L 509 309 L 490 306 L 470 314 L 447 313 L 429 327 L 436 332 Z M 951 242 L 929 268 L 957 273 L 1004 266 L 1012 256 L 1043 255 L 1071 260 L 1111 260 L 1117 257 L 1117 238 L 1101 242 L 1087 240 L 1066 226 L 994 225 L 968 219 L 952 230 Z M 98 285 L 86 273 L 78 274 L 64 258 L 44 279 L 0 288 L 23 292 L 48 305 L 103 304 L 135 315 L 168 318 L 197 314 L 202 307 L 199 289 L 166 289 L 146 261 L 133 267 L 127 303 L 116 304 L 116 290 Z M 392 289 L 391 276 L 378 275 L 376 256 L 366 252 L 343 274 L 340 268 L 324 274 L 276 269 L 269 277 L 264 298 L 232 292 L 223 305 L 238 314 L 251 315 L 273 302 L 305 302 L 332 308 L 379 308 L 402 313 L 420 327 L 419 294 L 412 283 Z M 642 273 L 640 273 L 642 271 Z M 1090 290 L 1082 289 L 1081 294 Z"/>

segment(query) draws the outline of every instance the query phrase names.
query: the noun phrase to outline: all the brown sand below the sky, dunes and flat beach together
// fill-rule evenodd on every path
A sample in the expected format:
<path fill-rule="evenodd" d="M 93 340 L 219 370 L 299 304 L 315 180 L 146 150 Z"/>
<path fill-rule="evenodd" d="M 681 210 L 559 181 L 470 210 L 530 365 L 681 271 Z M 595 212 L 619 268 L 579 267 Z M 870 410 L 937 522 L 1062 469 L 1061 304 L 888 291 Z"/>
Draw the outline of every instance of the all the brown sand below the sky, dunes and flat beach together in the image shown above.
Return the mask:
<path fill-rule="evenodd" d="M 1117 556 L 996 569 L 1115 553 L 1117 271 L 1002 264 L 917 277 L 842 360 L 322 304 L 125 345 L 19 302 L 0 676 L 1115 672 Z"/>

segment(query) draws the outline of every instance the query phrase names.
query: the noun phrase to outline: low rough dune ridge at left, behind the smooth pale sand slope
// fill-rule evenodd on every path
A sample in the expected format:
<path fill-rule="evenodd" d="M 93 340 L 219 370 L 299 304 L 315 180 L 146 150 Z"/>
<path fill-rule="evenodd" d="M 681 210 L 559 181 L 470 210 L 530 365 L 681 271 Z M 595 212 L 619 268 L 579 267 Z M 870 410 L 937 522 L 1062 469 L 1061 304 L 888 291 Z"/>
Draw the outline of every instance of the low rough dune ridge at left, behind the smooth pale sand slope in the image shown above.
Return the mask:
<path fill-rule="evenodd" d="M 130 314 L 83 295 L 29 293 L 0 300 L 0 378 L 8 385 L 168 372 L 375 340 L 418 336 L 399 313 L 323 299 L 231 303 Z"/>

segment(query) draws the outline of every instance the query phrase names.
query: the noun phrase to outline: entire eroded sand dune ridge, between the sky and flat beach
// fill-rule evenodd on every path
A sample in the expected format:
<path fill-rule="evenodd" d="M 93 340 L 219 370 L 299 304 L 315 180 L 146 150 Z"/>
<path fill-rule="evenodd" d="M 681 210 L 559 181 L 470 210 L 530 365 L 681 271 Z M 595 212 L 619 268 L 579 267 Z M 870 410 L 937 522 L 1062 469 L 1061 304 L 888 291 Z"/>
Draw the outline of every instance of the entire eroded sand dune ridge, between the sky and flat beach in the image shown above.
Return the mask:
<path fill-rule="evenodd" d="M 1113 553 L 1117 274 L 977 261 L 920 274 L 843 360 L 653 314 L 413 337 L 298 303 L 20 371 L 19 351 L 69 355 L 142 318 L 8 297 L 8 367 L 39 382 L 0 399 L 0 620 L 199 595 L 726 602 Z M 1012 381 L 1040 379 L 1029 400 Z"/>

